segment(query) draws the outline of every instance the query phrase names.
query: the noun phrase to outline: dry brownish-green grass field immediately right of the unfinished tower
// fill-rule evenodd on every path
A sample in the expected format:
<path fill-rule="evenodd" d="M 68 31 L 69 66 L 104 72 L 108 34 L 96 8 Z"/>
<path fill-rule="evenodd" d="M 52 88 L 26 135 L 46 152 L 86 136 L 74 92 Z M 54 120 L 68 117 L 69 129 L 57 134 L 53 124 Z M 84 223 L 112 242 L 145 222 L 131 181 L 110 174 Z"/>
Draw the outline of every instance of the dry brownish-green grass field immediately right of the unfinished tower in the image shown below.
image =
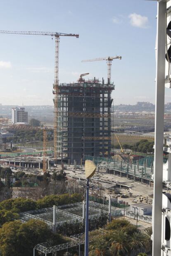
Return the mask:
<path fill-rule="evenodd" d="M 140 141 L 141 139 L 147 139 L 150 142 L 154 141 L 153 137 L 147 137 L 147 136 L 117 134 L 117 137 L 119 138 L 121 145 L 123 144 L 134 145 L 136 142 Z M 116 139 L 116 136 L 112 134 L 112 145 L 116 145 L 116 144 L 118 144 L 118 141 Z"/>

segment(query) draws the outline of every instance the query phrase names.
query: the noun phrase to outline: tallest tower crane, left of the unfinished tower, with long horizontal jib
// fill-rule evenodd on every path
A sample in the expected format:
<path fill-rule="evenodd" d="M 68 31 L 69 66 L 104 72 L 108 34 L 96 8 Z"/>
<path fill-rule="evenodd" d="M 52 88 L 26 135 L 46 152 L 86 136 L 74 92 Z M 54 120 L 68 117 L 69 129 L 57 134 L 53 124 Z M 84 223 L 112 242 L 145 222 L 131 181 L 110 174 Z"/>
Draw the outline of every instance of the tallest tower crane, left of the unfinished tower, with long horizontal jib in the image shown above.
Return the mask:
<path fill-rule="evenodd" d="M 55 37 L 55 79 L 53 84 L 54 94 L 54 158 L 57 160 L 57 119 L 58 119 L 58 93 L 59 93 L 59 37 L 60 36 L 75 36 L 79 37 L 78 34 L 66 34 L 58 32 L 42 32 L 42 31 L 6 31 L 0 30 L 0 33 L 5 34 L 19 34 L 19 35 L 36 35 L 36 36 L 54 36 Z"/>

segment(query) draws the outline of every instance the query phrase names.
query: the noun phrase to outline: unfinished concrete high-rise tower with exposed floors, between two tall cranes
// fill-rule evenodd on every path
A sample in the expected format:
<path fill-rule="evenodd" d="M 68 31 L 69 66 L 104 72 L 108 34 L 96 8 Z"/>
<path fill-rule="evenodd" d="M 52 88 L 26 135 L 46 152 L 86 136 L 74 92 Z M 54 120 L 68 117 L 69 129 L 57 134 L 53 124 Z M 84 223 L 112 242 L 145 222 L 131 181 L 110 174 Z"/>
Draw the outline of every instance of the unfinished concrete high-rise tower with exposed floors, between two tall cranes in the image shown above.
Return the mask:
<path fill-rule="evenodd" d="M 85 156 L 110 156 L 112 90 L 104 79 L 59 85 L 58 157 L 79 163 Z"/>

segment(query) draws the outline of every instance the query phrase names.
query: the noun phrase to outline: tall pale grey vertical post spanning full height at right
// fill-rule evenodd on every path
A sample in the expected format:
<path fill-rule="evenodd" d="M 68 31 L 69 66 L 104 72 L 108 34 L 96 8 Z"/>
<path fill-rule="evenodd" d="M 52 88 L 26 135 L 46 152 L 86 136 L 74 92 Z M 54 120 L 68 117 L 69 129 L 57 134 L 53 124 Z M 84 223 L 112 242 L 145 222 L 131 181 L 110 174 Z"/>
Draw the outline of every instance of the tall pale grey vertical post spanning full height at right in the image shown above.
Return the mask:
<path fill-rule="evenodd" d="M 166 2 L 157 2 L 156 100 L 154 140 L 154 198 L 152 213 L 152 256 L 161 256 L 161 210 L 163 176 L 164 84 L 166 47 Z"/>

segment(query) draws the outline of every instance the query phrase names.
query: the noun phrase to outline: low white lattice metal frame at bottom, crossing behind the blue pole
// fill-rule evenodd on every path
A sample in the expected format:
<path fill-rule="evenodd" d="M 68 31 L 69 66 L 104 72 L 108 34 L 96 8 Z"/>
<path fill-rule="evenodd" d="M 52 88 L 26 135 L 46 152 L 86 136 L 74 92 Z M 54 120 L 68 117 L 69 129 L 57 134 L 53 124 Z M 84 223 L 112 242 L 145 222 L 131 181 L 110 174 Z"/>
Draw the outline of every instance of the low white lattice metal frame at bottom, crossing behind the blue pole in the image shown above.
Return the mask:
<path fill-rule="evenodd" d="M 103 230 L 95 230 L 89 232 L 89 242 L 98 237 L 99 235 L 105 234 Z M 79 255 L 80 255 L 80 245 L 85 242 L 85 233 L 75 234 L 69 237 L 70 242 L 65 244 L 53 245 L 51 241 L 37 244 L 33 249 L 33 256 L 35 256 L 35 250 L 44 253 L 45 255 L 52 253 L 56 256 L 57 251 L 62 251 L 71 247 L 79 246 Z"/>

